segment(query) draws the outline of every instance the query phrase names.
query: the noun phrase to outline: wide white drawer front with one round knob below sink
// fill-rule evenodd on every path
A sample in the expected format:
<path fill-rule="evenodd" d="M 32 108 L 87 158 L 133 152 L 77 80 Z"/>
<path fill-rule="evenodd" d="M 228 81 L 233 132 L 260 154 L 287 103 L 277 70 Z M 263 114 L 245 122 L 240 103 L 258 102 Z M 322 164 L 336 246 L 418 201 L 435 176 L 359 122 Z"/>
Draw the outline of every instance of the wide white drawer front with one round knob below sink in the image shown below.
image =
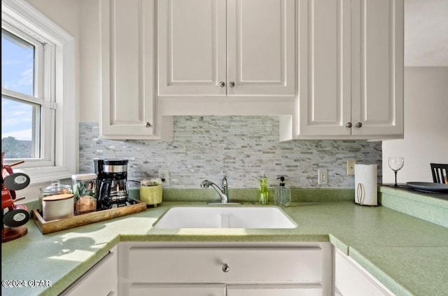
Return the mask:
<path fill-rule="evenodd" d="M 133 283 L 321 283 L 321 248 L 130 248 Z"/>

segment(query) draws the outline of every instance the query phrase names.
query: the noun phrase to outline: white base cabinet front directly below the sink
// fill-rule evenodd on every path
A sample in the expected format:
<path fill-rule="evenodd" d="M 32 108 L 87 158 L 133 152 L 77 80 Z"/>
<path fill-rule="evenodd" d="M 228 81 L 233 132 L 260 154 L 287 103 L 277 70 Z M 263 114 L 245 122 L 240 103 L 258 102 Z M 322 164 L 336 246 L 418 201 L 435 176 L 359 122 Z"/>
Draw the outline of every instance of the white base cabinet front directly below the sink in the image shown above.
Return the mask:
<path fill-rule="evenodd" d="M 331 295 L 329 243 L 120 243 L 120 295 Z"/>

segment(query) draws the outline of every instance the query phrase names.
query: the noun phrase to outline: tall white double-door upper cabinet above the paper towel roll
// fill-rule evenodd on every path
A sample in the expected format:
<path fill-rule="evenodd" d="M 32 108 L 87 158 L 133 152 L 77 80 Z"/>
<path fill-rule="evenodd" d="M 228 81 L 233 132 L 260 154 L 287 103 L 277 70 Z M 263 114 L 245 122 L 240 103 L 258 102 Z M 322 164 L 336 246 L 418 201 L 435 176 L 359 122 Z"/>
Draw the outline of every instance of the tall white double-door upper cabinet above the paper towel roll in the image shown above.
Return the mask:
<path fill-rule="evenodd" d="M 300 0 L 298 139 L 403 134 L 403 0 Z"/>

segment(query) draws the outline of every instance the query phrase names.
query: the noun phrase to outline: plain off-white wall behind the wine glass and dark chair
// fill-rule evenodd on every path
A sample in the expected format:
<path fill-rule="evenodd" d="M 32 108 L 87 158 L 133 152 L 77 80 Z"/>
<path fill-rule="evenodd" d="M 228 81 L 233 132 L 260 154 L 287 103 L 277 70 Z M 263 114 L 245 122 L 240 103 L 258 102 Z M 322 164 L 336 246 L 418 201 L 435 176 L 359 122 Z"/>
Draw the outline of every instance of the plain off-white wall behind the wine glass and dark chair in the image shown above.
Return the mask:
<path fill-rule="evenodd" d="M 390 156 L 405 158 L 398 183 L 432 182 L 430 162 L 448 164 L 448 67 L 405 67 L 405 139 L 383 142 L 383 183 Z"/>

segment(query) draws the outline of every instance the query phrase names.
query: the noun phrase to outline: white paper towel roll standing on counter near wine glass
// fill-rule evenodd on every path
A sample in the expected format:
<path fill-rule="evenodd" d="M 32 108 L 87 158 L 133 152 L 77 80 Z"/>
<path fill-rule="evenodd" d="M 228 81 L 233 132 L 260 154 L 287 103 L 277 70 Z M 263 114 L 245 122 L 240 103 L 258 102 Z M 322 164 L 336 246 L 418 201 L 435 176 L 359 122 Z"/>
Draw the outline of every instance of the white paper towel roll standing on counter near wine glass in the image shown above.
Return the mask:
<path fill-rule="evenodd" d="M 378 205 L 377 164 L 355 164 L 355 202 L 365 206 Z"/>

